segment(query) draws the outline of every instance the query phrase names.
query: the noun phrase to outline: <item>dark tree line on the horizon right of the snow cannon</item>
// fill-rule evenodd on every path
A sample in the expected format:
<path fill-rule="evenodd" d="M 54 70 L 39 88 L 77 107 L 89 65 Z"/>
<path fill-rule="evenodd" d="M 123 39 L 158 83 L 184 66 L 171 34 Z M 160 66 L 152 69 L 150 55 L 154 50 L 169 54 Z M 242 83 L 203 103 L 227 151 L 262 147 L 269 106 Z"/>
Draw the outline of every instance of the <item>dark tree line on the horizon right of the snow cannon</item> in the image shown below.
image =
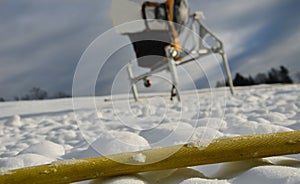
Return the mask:
<path fill-rule="evenodd" d="M 300 73 L 297 73 L 296 76 L 299 78 L 300 82 Z M 271 68 L 267 73 L 258 73 L 254 77 L 249 75 L 248 77 L 243 76 L 240 73 L 236 73 L 233 79 L 234 86 L 251 86 L 259 84 L 292 84 L 294 83 L 293 79 L 290 77 L 289 70 L 285 66 L 280 66 L 279 69 Z M 228 80 L 224 82 L 218 81 L 216 87 L 229 86 Z"/>

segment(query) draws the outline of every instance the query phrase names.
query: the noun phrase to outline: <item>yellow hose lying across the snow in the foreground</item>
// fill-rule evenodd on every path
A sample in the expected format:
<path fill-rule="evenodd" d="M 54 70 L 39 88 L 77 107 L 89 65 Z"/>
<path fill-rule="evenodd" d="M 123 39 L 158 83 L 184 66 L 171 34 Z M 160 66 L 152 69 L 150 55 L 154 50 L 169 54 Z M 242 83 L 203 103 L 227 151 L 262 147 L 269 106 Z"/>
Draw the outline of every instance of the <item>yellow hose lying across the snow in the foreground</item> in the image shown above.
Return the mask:
<path fill-rule="evenodd" d="M 166 152 L 174 154 L 154 162 Z M 240 136 L 216 139 L 207 147 L 185 144 L 2 171 L 0 183 L 70 183 L 106 176 L 296 153 L 300 153 L 300 131 Z M 143 155 L 145 163 L 134 163 L 136 155 Z"/>

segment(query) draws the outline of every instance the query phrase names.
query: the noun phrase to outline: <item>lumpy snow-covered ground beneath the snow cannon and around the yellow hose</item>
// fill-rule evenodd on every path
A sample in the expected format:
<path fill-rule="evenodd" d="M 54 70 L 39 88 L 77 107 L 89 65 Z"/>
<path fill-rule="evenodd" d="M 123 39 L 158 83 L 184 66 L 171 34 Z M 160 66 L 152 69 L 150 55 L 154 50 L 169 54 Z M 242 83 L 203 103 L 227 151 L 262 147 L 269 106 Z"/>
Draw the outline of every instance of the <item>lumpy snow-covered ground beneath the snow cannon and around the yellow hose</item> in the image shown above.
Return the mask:
<path fill-rule="evenodd" d="M 0 168 L 137 151 L 199 139 L 300 130 L 300 86 L 185 92 L 139 103 L 108 97 L 0 103 Z M 160 159 L 164 159 L 162 156 Z M 142 157 L 137 158 L 143 160 Z M 83 183 L 300 183 L 300 155 L 120 176 Z M 0 169 L 3 171 L 4 169 Z"/>

